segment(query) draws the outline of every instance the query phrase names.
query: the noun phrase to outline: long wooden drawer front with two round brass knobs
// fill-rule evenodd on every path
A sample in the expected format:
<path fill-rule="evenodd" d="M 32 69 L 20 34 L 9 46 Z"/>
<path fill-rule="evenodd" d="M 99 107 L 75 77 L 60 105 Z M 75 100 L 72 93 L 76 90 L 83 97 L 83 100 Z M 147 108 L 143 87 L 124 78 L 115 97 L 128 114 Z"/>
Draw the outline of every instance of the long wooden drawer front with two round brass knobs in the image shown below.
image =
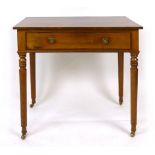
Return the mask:
<path fill-rule="evenodd" d="M 27 33 L 27 49 L 130 49 L 130 33 Z"/>

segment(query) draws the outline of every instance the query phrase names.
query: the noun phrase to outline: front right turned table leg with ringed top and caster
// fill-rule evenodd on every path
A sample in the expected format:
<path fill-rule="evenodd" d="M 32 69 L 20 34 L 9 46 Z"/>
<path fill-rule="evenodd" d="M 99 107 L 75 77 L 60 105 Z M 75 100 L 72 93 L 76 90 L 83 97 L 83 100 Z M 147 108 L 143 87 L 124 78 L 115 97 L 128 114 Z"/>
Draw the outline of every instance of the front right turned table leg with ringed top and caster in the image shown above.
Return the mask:
<path fill-rule="evenodd" d="M 131 53 L 131 137 L 135 136 L 137 124 L 138 54 Z"/>

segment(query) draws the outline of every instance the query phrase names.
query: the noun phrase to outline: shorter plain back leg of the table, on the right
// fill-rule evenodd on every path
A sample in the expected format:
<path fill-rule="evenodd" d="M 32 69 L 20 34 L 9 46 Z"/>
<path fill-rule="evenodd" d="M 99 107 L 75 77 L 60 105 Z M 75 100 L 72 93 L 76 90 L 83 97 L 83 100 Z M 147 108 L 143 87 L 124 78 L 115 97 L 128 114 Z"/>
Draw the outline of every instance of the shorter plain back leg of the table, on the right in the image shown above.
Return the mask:
<path fill-rule="evenodd" d="M 124 53 L 118 52 L 118 85 L 119 85 L 119 104 L 123 103 L 123 69 L 124 69 Z"/>

